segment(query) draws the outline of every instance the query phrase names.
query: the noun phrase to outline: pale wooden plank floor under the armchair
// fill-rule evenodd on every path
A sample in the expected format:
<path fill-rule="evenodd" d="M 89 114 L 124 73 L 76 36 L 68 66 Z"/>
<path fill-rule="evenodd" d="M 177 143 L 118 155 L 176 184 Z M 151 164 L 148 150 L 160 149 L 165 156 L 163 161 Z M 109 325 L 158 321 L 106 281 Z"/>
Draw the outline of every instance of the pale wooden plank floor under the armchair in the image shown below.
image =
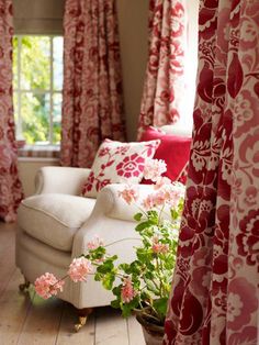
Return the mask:
<path fill-rule="evenodd" d="M 132 316 L 98 308 L 79 333 L 76 311 L 57 299 L 42 300 L 33 288 L 19 292 L 22 275 L 14 265 L 15 225 L 0 222 L 0 345 L 144 345 L 142 329 Z"/>

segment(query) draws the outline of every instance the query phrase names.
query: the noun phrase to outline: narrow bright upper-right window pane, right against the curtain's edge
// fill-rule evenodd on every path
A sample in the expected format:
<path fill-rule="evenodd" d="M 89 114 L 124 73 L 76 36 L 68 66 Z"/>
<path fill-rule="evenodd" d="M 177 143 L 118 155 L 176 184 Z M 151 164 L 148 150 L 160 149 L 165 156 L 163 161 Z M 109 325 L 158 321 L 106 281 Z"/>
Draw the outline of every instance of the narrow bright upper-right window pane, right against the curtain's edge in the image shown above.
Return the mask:
<path fill-rule="evenodd" d="M 63 89 L 63 37 L 53 38 L 54 90 Z"/>

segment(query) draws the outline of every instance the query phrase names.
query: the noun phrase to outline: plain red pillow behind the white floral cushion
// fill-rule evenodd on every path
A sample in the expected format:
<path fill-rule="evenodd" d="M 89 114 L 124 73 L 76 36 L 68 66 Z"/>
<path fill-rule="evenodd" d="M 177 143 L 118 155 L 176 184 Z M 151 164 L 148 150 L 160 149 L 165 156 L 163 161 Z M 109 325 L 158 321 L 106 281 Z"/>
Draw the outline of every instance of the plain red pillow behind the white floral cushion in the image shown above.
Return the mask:
<path fill-rule="evenodd" d="M 166 134 L 165 132 L 149 127 L 143 133 L 140 141 L 146 142 L 151 140 L 161 141 L 154 159 L 164 159 L 166 162 L 167 171 L 162 176 L 170 178 L 172 181 L 178 180 L 189 162 L 191 137 Z"/>

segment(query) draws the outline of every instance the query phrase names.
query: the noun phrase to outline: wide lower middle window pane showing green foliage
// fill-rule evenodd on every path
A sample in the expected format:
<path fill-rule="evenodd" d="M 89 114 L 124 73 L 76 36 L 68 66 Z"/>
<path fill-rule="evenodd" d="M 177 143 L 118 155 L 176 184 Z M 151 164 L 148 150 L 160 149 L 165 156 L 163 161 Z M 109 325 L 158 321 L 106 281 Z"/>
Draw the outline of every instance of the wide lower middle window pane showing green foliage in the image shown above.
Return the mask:
<path fill-rule="evenodd" d="M 22 129 L 27 144 L 48 144 L 49 93 L 22 93 Z"/>

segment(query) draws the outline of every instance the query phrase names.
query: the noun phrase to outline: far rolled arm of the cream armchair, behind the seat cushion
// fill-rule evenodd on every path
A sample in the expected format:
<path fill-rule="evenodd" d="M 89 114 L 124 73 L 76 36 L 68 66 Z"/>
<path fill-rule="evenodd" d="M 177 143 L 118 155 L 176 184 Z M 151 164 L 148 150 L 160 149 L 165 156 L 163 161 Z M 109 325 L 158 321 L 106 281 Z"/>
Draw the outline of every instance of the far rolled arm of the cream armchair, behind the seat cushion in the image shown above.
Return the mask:
<path fill-rule="evenodd" d="M 90 169 L 70 167 L 42 167 L 35 178 L 35 193 L 80 194 Z"/>

